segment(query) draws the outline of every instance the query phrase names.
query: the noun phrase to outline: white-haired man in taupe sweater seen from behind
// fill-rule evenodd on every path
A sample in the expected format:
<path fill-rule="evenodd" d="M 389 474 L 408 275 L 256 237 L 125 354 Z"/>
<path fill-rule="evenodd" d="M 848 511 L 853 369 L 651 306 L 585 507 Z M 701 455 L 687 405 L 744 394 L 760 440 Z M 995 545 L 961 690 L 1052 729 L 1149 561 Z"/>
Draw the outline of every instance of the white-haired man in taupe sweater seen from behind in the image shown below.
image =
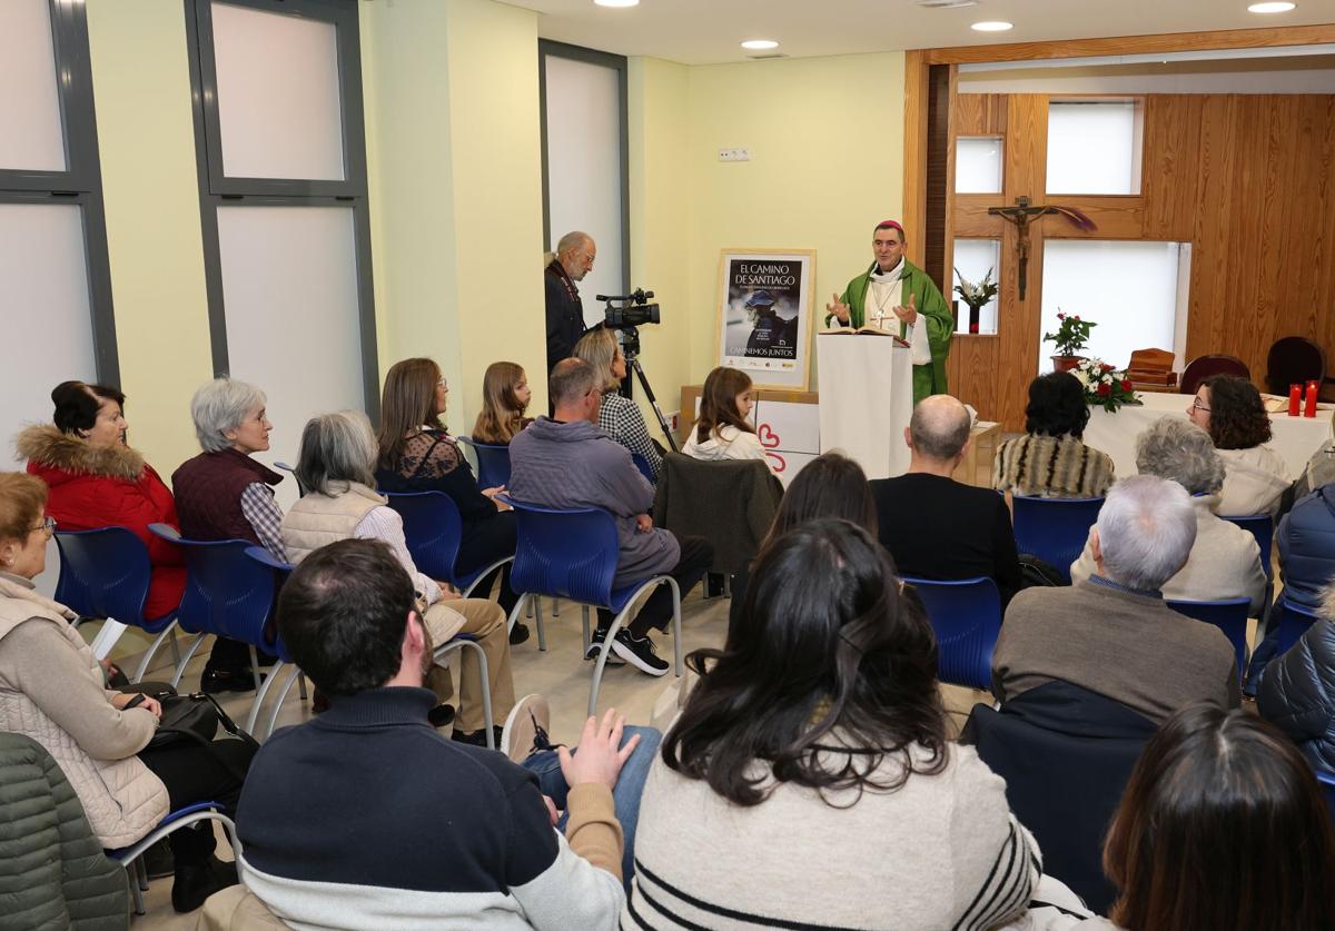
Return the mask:
<path fill-rule="evenodd" d="M 1089 531 L 1093 574 L 1069 588 L 1025 588 L 1007 608 L 992 694 L 1005 703 L 1061 680 L 1155 723 L 1195 702 L 1236 708 L 1228 638 L 1163 599 L 1195 542 L 1196 514 L 1181 486 L 1153 475 L 1115 484 Z"/>

